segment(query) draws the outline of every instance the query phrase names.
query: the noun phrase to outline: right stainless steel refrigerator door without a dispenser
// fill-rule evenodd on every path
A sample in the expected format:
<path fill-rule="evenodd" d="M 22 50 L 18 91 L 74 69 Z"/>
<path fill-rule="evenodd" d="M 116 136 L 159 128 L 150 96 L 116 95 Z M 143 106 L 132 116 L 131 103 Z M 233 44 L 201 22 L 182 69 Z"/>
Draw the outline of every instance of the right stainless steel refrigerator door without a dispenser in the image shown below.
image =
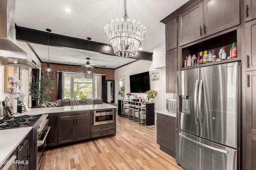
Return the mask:
<path fill-rule="evenodd" d="M 238 63 L 200 68 L 200 137 L 233 148 L 238 148 L 238 77 Z"/>

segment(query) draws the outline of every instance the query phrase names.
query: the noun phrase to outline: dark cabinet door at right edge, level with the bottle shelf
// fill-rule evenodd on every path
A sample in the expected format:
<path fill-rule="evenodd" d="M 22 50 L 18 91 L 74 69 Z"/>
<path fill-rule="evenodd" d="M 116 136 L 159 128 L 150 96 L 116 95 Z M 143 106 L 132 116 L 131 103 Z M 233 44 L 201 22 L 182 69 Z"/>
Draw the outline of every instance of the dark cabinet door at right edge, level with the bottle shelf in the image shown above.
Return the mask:
<path fill-rule="evenodd" d="M 246 71 L 256 70 L 256 20 L 245 23 Z"/>

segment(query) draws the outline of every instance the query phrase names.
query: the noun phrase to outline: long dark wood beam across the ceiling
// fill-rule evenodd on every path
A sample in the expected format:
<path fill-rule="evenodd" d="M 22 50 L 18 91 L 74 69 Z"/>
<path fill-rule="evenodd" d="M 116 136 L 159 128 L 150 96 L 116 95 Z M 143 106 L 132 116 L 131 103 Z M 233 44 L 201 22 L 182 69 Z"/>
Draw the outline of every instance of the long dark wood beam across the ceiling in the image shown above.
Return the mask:
<path fill-rule="evenodd" d="M 30 29 L 26 27 L 20 27 L 16 25 L 16 39 L 18 41 L 25 41 L 29 43 L 36 43 L 42 45 L 48 45 L 48 32 L 39 31 L 36 29 Z M 49 33 L 50 46 L 54 47 L 68 47 L 74 49 L 89 50 L 106 55 L 114 55 L 112 47 L 108 44 L 98 43 L 94 41 L 88 41 L 85 39 L 79 39 L 74 37 L 68 37 L 64 35 Z M 134 59 L 152 61 L 152 54 L 145 51 L 138 51 Z"/>

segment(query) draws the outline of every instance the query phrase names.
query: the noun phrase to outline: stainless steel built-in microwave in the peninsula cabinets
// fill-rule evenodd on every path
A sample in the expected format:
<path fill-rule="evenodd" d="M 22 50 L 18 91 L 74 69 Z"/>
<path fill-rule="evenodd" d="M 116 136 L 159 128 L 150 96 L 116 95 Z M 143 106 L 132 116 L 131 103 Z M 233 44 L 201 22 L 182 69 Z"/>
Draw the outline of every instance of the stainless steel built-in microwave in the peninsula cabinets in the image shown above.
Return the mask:
<path fill-rule="evenodd" d="M 94 110 L 93 125 L 103 125 L 108 123 L 115 123 L 114 109 Z"/>

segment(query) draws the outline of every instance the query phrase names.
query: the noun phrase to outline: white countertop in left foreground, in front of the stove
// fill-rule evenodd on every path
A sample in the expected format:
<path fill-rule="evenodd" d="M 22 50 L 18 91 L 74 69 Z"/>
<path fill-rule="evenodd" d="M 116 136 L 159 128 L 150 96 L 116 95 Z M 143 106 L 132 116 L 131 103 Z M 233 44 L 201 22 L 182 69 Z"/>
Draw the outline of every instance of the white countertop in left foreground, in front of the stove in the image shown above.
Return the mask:
<path fill-rule="evenodd" d="M 5 161 L 33 127 L 0 130 L 0 161 Z"/>

